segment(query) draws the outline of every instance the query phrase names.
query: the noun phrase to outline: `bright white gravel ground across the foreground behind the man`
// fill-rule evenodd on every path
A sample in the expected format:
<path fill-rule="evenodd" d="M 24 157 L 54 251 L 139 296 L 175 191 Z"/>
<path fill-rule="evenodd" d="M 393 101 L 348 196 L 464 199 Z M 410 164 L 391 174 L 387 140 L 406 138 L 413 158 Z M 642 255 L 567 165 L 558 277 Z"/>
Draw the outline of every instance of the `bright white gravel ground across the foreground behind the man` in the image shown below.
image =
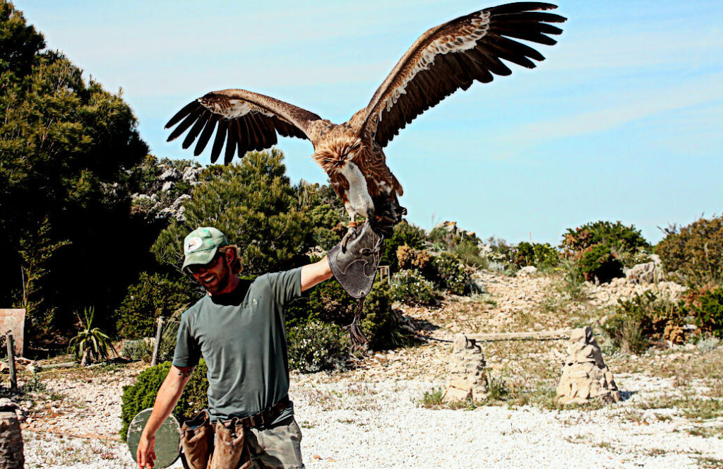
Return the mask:
<path fill-rule="evenodd" d="M 639 376 L 618 383 L 640 391 L 664 384 Z M 299 379 L 291 397 L 307 468 L 696 468 L 701 457 L 723 460 L 723 440 L 691 436 L 682 431 L 690 423 L 675 416 L 659 421 L 650 410 L 633 412 L 645 392 L 594 411 L 422 407 L 424 392 L 439 386 Z M 24 435 L 26 468 L 134 467 L 115 441 Z"/>

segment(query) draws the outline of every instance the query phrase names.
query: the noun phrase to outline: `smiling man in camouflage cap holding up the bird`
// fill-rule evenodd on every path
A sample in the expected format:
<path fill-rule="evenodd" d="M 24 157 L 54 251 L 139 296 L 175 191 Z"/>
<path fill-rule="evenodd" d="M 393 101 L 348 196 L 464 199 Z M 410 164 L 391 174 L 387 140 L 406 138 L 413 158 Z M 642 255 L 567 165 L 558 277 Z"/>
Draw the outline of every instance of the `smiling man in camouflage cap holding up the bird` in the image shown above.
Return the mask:
<path fill-rule="evenodd" d="M 360 236 L 361 237 L 361 236 Z M 153 467 L 155 433 L 174 409 L 194 367 L 208 366 L 208 414 L 184 424 L 184 464 L 234 469 L 304 468 L 301 432 L 288 400 L 284 307 L 332 276 L 323 258 L 290 271 L 241 280 L 236 247 L 218 229 L 195 229 L 184 240 L 183 269 L 208 292 L 183 316 L 171 370 L 158 391 L 137 450 Z"/>

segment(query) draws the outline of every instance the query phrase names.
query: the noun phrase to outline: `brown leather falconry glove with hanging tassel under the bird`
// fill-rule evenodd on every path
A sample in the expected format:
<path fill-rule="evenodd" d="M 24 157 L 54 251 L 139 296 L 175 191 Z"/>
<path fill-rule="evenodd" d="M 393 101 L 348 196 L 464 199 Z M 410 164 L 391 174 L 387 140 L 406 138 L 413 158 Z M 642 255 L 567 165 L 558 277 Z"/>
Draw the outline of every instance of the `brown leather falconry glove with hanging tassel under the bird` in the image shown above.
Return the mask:
<path fill-rule="evenodd" d="M 346 241 L 346 249 L 340 242 L 327 253 L 329 266 L 334 278 L 346 292 L 359 300 L 350 326 L 351 340 L 356 345 L 367 342 L 359 329 L 361 307 L 364 297 L 372 290 L 377 267 L 382 257 L 384 237 L 377 235 L 368 222 L 356 227 L 354 234 Z"/>

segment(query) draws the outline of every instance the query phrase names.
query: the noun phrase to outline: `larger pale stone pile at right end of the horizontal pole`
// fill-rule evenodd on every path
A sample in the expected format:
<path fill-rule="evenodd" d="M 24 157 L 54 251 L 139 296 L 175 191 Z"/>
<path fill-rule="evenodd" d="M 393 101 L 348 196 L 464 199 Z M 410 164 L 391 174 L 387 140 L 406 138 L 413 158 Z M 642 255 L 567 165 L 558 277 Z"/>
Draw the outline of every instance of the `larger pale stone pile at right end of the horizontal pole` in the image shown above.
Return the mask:
<path fill-rule="evenodd" d="M 570 334 L 568 358 L 557 385 L 557 400 L 562 404 L 585 404 L 592 400 L 620 401 L 612 372 L 602 360 L 602 351 L 590 326 Z"/>

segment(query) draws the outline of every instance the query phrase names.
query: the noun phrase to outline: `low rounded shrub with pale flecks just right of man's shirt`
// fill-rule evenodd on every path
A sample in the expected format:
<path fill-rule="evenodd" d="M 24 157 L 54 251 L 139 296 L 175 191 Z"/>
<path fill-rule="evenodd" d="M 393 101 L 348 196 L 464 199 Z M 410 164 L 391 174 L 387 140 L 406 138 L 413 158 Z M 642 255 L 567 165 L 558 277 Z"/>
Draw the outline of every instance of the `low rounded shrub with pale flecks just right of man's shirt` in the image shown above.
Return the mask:
<path fill-rule="evenodd" d="M 288 366 L 302 373 L 342 368 L 349 352 L 348 334 L 317 319 L 287 331 Z"/>

